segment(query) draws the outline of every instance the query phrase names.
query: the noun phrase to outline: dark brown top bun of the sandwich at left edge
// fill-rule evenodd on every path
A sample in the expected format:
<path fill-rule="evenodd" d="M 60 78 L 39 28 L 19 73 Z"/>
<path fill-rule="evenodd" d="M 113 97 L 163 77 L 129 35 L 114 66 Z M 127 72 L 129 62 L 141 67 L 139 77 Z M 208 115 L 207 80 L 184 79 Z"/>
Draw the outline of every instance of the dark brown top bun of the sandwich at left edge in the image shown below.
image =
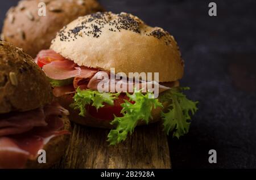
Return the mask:
<path fill-rule="evenodd" d="M 36 109 L 51 101 L 51 85 L 33 59 L 0 41 L 0 114 Z"/>

